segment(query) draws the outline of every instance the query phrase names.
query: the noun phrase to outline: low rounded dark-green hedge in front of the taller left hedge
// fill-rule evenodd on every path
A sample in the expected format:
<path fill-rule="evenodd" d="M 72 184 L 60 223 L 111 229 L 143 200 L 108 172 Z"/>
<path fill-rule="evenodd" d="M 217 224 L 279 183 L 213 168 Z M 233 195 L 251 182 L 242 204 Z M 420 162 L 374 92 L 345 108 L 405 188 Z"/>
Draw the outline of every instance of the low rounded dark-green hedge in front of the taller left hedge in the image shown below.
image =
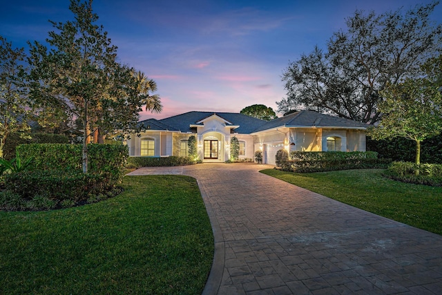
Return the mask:
<path fill-rule="evenodd" d="M 86 200 L 91 193 L 108 189 L 106 173 L 90 174 L 78 171 L 33 170 L 6 175 L 6 189 L 22 199 L 48 196 L 50 200 Z"/>

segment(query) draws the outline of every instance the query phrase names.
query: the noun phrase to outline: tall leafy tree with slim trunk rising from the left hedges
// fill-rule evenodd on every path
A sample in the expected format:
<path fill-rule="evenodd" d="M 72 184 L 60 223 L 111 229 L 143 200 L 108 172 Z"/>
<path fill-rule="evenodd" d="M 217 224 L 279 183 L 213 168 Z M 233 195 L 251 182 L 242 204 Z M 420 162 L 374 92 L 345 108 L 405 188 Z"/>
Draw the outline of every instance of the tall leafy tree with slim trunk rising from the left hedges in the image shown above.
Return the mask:
<path fill-rule="evenodd" d="M 146 95 L 140 94 L 133 68 L 117 62 L 117 47 L 96 23 L 92 1 L 71 0 L 75 20 L 51 21 L 49 48 L 30 44 L 31 93 L 41 115 L 84 126 L 83 171 L 88 169 L 87 146 L 93 131 L 136 130 Z"/>

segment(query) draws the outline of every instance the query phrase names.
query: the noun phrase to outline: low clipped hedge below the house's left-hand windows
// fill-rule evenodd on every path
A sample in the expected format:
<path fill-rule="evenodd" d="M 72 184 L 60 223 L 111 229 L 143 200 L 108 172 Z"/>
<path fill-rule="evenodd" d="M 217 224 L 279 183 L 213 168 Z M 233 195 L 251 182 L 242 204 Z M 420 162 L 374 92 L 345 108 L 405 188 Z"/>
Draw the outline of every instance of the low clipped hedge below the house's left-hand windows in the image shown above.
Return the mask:
<path fill-rule="evenodd" d="M 127 160 L 127 168 L 140 167 L 162 167 L 162 166 L 184 166 L 192 165 L 197 161 L 192 157 L 129 157 Z"/>

